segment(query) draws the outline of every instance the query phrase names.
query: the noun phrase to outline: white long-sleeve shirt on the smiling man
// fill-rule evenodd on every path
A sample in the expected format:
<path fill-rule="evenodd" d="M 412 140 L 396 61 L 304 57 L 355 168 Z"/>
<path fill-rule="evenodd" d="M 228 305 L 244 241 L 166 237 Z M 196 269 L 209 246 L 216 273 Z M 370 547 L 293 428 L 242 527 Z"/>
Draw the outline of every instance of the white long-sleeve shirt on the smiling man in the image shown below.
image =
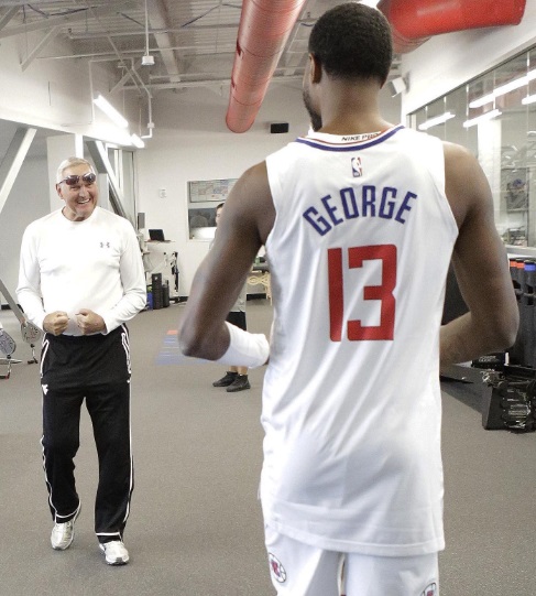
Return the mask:
<path fill-rule="evenodd" d="M 132 225 L 100 207 L 83 221 L 70 221 L 62 209 L 33 221 L 22 238 L 17 296 L 40 328 L 48 313 L 64 311 L 65 335 L 80 335 L 75 315 L 89 308 L 105 319 L 102 333 L 110 333 L 146 303 Z"/>

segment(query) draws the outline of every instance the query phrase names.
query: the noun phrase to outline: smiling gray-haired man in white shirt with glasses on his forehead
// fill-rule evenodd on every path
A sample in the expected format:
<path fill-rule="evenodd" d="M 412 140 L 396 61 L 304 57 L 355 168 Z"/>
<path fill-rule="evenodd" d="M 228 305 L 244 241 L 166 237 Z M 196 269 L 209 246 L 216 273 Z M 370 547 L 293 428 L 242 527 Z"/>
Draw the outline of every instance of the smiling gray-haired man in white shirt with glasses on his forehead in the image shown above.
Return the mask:
<path fill-rule="evenodd" d="M 56 181 L 64 205 L 24 231 L 17 289 L 25 315 L 45 333 L 42 445 L 51 544 L 58 551 L 70 546 L 80 512 L 74 457 L 86 400 L 99 457 L 95 531 L 106 562 L 123 565 L 134 486 L 125 322 L 145 306 L 145 277 L 132 225 L 98 206 L 91 164 L 69 158 Z"/>

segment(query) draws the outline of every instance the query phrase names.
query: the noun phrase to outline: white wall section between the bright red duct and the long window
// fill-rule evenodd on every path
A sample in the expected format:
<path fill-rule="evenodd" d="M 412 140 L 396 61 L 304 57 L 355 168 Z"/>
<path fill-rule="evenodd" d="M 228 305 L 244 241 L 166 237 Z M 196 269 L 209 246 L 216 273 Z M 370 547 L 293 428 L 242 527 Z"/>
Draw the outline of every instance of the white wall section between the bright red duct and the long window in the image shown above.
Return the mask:
<path fill-rule="evenodd" d="M 402 112 L 411 113 L 536 44 L 536 0 L 527 0 L 518 25 L 446 33 L 402 57 L 409 89 Z"/>

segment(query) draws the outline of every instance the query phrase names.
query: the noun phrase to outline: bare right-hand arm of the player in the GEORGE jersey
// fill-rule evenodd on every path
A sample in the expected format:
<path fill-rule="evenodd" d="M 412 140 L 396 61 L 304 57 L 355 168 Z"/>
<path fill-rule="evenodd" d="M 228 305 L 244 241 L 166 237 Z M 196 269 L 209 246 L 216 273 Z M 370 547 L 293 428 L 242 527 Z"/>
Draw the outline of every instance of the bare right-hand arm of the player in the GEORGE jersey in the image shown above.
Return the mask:
<path fill-rule="evenodd" d="M 441 367 L 508 348 L 518 326 L 488 180 L 478 161 L 459 145 L 445 143 L 445 164 L 446 193 L 459 227 L 452 262 L 469 312 L 441 327 Z"/>

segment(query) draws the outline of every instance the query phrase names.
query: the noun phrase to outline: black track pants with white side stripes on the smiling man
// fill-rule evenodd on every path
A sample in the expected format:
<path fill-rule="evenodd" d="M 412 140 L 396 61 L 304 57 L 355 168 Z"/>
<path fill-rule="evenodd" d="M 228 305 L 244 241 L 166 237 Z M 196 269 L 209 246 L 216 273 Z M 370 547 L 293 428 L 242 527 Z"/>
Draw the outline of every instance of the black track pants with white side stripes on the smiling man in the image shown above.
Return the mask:
<path fill-rule="evenodd" d="M 43 466 L 51 512 L 56 522 L 65 522 L 79 507 L 74 458 L 86 400 L 99 459 L 95 531 L 100 542 L 122 538 L 134 486 L 128 334 L 124 329 L 113 335 L 61 339 L 47 335 L 42 358 Z M 85 362 L 90 362 L 90 370 L 85 370 Z"/>

